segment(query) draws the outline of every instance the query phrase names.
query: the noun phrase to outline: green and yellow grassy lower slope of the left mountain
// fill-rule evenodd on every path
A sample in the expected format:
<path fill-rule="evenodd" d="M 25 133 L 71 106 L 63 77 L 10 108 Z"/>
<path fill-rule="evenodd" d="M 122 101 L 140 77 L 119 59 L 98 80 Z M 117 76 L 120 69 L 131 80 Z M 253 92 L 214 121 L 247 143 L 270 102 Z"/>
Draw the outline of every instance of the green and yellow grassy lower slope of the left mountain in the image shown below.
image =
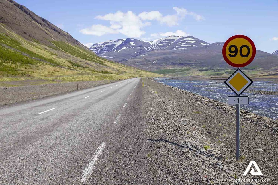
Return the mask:
<path fill-rule="evenodd" d="M 98 57 L 63 41 L 26 40 L 0 23 L 0 81 L 83 81 L 158 76 Z"/>

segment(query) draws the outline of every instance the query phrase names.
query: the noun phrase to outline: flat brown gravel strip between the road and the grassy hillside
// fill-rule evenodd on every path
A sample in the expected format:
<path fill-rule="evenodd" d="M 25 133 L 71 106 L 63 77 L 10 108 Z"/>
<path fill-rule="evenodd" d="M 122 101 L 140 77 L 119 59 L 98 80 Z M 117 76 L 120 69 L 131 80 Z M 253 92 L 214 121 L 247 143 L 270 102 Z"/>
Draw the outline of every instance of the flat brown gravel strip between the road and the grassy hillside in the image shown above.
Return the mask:
<path fill-rule="evenodd" d="M 26 85 L 20 87 L 0 87 L 0 106 L 76 91 L 77 84 L 78 89 L 85 89 L 103 85 L 106 83 L 109 83 L 109 81 L 79 81 L 66 83 L 49 83 L 42 85 Z"/>

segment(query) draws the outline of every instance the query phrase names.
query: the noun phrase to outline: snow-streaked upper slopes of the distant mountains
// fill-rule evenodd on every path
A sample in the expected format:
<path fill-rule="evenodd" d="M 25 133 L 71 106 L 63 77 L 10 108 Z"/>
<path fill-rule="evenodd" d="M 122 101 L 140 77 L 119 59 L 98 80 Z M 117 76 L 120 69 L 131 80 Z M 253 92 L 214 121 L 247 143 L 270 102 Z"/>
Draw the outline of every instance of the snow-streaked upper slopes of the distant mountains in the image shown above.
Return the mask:
<path fill-rule="evenodd" d="M 133 38 L 110 40 L 93 44 L 90 50 L 100 57 L 120 62 L 156 50 L 190 50 L 208 46 L 209 43 L 193 36 L 169 36 L 154 41 Z"/>

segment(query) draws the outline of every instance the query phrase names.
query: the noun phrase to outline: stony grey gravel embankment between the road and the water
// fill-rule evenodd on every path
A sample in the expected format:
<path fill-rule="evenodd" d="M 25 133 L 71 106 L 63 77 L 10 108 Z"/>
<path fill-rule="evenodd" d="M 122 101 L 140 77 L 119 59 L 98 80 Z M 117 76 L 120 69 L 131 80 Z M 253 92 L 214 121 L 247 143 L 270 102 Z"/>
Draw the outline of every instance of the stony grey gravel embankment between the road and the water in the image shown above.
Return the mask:
<path fill-rule="evenodd" d="M 236 162 L 233 107 L 152 79 L 144 79 L 144 85 L 148 170 L 160 184 L 278 183 L 277 121 L 242 110 Z M 263 176 L 243 176 L 251 160 Z"/>

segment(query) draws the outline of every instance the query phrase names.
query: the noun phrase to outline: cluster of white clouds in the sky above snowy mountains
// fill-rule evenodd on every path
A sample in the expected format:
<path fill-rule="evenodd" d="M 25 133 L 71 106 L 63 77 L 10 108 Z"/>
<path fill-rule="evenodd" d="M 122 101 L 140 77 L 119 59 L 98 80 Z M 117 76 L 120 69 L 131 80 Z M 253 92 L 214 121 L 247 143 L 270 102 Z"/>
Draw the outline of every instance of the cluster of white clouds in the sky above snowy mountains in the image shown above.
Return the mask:
<path fill-rule="evenodd" d="M 161 24 L 166 24 L 167 26 L 176 26 L 179 25 L 179 21 L 185 18 L 186 15 L 193 16 L 196 20 L 203 20 L 201 15 L 197 15 L 194 12 L 189 12 L 184 8 L 173 7 L 176 11 L 174 15 L 166 15 L 163 16 L 159 11 L 150 11 L 150 12 L 142 12 L 136 15 L 132 11 L 128 11 L 126 13 L 117 11 L 116 13 L 108 13 L 106 15 L 98 15 L 95 19 L 109 21 L 110 26 L 104 26 L 101 24 L 93 25 L 90 28 L 85 28 L 80 30 L 81 33 L 87 35 L 96 35 L 102 36 L 105 34 L 118 34 L 121 33 L 127 37 L 131 38 L 140 38 L 145 34 L 143 30 L 144 27 L 150 26 L 152 23 L 147 21 L 157 21 Z M 173 32 L 167 32 L 173 33 Z M 153 35 L 152 37 L 161 36 L 160 33 L 158 35 Z M 177 30 L 172 35 L 185 35 L 186 33 Z M 163 35 L 163 36 L 164 36 Z"/>

